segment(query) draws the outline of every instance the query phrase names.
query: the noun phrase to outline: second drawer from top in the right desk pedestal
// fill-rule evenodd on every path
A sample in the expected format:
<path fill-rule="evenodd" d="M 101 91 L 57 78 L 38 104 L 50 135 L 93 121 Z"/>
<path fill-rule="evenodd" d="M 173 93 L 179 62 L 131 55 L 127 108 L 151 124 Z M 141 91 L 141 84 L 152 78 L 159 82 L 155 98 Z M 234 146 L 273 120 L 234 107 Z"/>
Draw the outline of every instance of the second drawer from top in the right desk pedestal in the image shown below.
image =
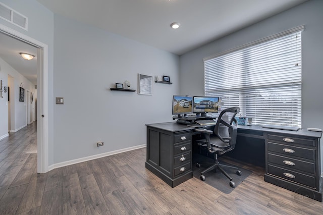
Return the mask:
<path fill-rule="evenodd" d="M 289 157 L 301 157 L 305 159 L 315 160 L 315 150 L 312 148 L 303 148 L 279 143 L 268 142 L 267 150 L 285 154 Z"/>

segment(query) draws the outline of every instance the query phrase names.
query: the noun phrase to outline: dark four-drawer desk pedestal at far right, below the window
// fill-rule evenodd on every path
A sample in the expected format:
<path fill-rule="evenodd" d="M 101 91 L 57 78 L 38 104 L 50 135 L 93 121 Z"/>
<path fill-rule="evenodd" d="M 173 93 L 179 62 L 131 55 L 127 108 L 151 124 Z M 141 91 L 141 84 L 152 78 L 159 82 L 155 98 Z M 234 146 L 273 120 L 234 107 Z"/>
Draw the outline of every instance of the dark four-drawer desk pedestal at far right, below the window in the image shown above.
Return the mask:
<path fill-rule="evenodd" d="M 320 139 L 313 136 L 270 132 L 264 132 L 264 138 L 266 148 L 264 180 L 322 201 Z"/>

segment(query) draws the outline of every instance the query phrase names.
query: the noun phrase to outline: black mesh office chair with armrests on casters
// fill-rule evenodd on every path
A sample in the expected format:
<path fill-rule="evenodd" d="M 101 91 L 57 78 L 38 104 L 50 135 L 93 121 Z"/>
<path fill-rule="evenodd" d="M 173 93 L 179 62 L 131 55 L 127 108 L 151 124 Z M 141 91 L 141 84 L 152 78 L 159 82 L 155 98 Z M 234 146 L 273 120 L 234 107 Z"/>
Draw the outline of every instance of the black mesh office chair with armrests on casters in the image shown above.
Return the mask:
<path fill-rule="evenodd" d="M 207 149 L 208 153 L 214 154 L 214 163 L 201 172 L 200 179 L 205 180 L 204 174 L 212 170 L 220 170 L 228 179 L 230 179 L 230 186 L 235 187 L 235 183 L 232 178 L 223 170 L 222 167 L 230 167 L 237 169 L 236 174 L 241 176 L 241 171 L 236 167 L 227 165 L 220 165 L 218 161 L 218 155 L 224 154 L 234 149 L 237 138 L 237 121 L 235 116 L 240 112 L 239 107 L 233 107 L 223 110 L 218 118 L 217 124 L 214 127 L 214 131 L 207 129 L 195 129 L 195 131 L 204 134 L 205 139 L 196 140 L 196 143 L 202 148 Z M 235 124 L 233 124 L 235 122 Z M 211 135 L 214 133 L 215 135 Z M 199 163 L 196 165 L 201 167 Z"/>

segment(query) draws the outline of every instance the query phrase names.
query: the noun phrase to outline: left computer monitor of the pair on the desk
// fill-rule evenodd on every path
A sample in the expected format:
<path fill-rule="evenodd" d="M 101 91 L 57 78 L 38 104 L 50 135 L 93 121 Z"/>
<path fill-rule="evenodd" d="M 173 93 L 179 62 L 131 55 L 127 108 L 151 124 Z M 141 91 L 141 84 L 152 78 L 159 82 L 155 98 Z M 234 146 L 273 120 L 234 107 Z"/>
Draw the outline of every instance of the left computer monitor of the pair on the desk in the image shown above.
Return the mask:
<path fill-rule="evenodd" d="M 192 113 L 192 99 L 191 96 L 173 95 L 172 114 L 179 118 L 187 117 Z"/>

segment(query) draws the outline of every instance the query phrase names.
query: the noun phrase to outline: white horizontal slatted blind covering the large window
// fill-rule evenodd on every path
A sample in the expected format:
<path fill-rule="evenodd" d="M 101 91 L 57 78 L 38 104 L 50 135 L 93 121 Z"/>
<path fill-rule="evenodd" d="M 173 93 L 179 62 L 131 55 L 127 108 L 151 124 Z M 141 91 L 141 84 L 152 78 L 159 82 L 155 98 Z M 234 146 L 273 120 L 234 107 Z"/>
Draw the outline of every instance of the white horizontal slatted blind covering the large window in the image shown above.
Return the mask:
<path fill-rule="evenodd" d="M 303 26 L 204 59 L 205 96 L 239 106 L 255 125 L 301 127 Z"/>

